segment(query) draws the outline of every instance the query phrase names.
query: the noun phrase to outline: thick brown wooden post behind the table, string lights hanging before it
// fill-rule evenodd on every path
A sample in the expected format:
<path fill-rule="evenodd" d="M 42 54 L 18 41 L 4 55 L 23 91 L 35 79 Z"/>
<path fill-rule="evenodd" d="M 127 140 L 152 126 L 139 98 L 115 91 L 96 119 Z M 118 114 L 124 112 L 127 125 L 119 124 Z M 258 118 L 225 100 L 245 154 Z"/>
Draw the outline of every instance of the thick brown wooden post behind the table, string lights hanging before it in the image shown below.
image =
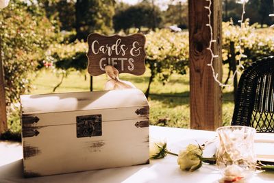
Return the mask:
<path fill-rule="evenodd" d="M 189 49 L 190 49 L 190 127 L 201 130 L 216 130 L 222 125 L 221 87 L 214 81 L 210 63 L 211 54 L 207 47 L 210 41 L 208 6 L 206 0 L 188 1 L 189 9 Z M 219 58 L 214 58 L 214 69 L 222 76 L 221 56 L 221 0 L 212 0 L 211 23 L 213 28 L 212 50 Z"/>

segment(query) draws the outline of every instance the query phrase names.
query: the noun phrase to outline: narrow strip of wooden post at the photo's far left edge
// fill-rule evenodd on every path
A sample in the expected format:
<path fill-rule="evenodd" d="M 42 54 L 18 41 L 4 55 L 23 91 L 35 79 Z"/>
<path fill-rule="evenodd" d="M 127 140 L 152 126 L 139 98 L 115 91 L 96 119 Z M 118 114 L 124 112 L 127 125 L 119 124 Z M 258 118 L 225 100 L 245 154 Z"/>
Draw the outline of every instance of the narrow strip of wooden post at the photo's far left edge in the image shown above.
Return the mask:
<path fill-rule="evenodd" d="M 5 108 L 5 85 L 3 76 L 3 64 L 1 56 L 1 38 L 0 38 L 0 134 L 7 130 L 7 114 Z"/>

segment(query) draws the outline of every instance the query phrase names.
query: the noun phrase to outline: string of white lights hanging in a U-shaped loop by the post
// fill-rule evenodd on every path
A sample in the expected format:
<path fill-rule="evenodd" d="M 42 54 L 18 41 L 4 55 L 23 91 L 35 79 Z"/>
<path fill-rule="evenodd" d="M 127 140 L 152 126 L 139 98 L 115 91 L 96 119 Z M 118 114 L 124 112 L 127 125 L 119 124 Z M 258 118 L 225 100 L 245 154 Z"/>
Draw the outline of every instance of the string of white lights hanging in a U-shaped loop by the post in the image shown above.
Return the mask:
<path fill-rule="evenodd" d="M 220 82 L 219 79 L 218 79 L 219 74 L 215 72 L 214 67 L 213 67 L 214 58 L 219 58 L 219 56 L 214 55 L 214 53 L 211 49 L 212 42 L 216 42 L 216 40 L 213 39 L 213 29 L 212 29 L 211 20 L 210 20 L 210 17 L 211 17 L 211 14 L 212 14 L 212 11 L 211 11 L 212 0 L 206 0 L 206 1 L 209 1 L 209 5 L 205 6 L 205 8 L 208 10 L 208 24 L 206 24 L 206 26 L 208 26 L 209 29 L 210 29 L 210 44 L 209 44 L 207 49 L 210 51 L 210 54 L 211 54 L 211 60 L 210 60 L 210 64 L 208 64 L 208 66 L 210 66 L 210 68 L 212 70 L 213 78 L 219 84 L 219 86 L 221 86 L 221 87 L 228 86 L 230 88 L 232 86 L 232 83 L 231 84 L 223 84 L 222 82 Z M 245 38 L 242 38 L 240 34 L 242 33 L 241 29 L 245 28 L 245 23 L 244 23 L 245 4 L 248 1 L 249 0 L 236 1 L 236 3 L 242 4 L 242 15 L 241 15 L 241 19 L 238 21 L 238 23 L 240 23 L 240 31 L 239 31 L 239 36 L 238 36 L 239 37 L 239 45 L 236 47 L 240 50 L 239 51 L 240 52 L 240 58 L 239 58 L 239 63 L 236 66 L 236 71 L 234 72 L 232 77 L 229 78 L 229 80 L 234 80 L 234 78 L 236 77 L 236 74 L 240 73 L 240 69 L 244 69 L 244 66 L 242 65 L 241 61 L 242 61 L 242 58 L 247 58 L 247 56 L 242 53 L 242 48 L 241 48 L 242 40 L 245 39 Z M 273 16 L 274 16 L 274 14 L 273 14 Z"/>

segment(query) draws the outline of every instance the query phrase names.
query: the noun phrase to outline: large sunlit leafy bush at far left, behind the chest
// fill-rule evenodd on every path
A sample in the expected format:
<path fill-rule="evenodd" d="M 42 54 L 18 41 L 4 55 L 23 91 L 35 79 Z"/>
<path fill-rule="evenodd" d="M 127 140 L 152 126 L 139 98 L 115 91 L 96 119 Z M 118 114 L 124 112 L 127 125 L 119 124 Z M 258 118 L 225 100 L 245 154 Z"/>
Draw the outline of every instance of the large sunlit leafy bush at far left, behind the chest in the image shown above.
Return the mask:
<path fill-rule="evenodd" d="M 57 29 L 35 5 L 13 0 L 0 13 L 0 34 L 5 94 L 8 106 L 30 90 L 29 73 L 36 71 L 38 60 L 56 38 Z"/>

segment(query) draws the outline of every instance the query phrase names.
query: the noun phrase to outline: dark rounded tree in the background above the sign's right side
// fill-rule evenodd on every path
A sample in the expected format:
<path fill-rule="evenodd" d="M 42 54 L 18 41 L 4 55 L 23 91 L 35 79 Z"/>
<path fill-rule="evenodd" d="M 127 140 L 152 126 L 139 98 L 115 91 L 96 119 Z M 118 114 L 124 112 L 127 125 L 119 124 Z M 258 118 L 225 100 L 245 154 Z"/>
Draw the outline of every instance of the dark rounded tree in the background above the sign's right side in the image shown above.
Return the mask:
<path fill-rule="evenodd" d="M 146 2 L 121 8 L 113 18 L 114 29 L 116 32 L 121 29 L 126 31 L 131 27 L 136 27 L 139 31 L 141 27 L 155 29 L 159 27 L 162 20 L 160 14 L 158 6 Z"/>

